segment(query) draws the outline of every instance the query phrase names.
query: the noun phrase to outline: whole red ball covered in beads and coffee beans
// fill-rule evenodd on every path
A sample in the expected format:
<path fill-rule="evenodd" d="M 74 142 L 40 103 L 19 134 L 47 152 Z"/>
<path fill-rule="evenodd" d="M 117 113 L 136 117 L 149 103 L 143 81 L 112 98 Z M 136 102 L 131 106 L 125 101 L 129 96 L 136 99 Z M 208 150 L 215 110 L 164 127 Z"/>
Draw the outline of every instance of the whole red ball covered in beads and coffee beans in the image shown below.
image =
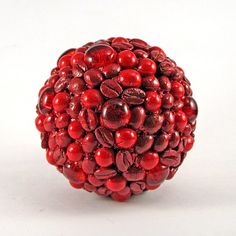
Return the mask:
<path fill-rule="evenodd" d="M 141 39 L 69 49 L 39 91 L 46 160 L 76 189 L 126 201 L 174 177 L 198 107 L 184 71 Z"/>

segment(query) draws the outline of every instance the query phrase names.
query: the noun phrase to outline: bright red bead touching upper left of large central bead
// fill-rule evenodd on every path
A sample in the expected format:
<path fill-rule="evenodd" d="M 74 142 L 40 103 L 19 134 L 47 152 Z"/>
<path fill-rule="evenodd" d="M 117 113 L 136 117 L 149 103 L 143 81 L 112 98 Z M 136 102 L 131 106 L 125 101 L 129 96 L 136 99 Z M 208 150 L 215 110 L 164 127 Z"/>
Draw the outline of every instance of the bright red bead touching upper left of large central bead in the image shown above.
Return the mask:
<path fill-rule="evenodd" d="M 103 98 L 98 90 L 88 89 L 82 93 L 80 101 L 85 108 L 98 108 L 102 105 Z"/>

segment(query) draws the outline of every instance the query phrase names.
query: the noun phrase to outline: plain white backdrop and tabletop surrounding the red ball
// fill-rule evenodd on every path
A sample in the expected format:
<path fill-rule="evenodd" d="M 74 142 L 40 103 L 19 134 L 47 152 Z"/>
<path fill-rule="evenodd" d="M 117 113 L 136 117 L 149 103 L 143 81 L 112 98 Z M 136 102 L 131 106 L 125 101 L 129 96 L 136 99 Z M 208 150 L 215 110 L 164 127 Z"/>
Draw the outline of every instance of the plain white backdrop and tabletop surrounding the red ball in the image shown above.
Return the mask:
<path fill-rule="evenodd" d="M 236 235 L 235 1 L 0 1 L 0 235 Z M 199 105 L 175 179 L 117 203 L 70 188 L 34 127 L 64 50 L 111 36 L 162 47 Z"/>

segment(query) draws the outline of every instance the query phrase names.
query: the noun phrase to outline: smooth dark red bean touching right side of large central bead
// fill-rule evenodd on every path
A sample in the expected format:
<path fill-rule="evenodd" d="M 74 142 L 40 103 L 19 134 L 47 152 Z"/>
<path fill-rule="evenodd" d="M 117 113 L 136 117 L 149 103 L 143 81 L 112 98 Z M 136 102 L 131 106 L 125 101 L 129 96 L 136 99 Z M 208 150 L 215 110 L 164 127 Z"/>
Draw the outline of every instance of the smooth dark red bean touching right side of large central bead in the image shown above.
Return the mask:
<path fill-rule="evenodd" d="M 132 126 L 134 129 L 139 129 L 140 127 L 142 127 L 145 117 L 146 113 L 143 107 L 134 107 L 131 111 L 129 125 Z"/>

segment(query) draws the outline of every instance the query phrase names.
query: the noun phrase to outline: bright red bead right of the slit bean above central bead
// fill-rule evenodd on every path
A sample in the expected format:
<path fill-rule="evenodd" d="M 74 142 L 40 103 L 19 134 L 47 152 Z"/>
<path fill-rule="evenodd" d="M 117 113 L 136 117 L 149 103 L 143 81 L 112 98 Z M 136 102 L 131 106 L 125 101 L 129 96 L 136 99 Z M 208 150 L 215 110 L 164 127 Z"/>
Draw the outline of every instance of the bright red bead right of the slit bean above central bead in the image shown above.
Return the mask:
<path fill-rule="evenodd" d="M 159 111 L 161 107 L 161 97 L 157 92 L 146 92 L 145 108 L 151 112 Z"/>

